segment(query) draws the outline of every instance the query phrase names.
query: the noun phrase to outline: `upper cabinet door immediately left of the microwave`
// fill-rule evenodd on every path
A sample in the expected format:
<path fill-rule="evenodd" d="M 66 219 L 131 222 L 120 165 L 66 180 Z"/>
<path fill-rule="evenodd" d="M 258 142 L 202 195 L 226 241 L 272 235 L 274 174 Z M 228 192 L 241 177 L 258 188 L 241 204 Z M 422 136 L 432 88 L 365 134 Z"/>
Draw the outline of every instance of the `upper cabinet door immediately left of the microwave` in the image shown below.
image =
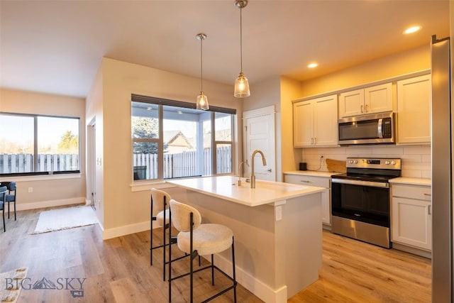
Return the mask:
<path fill-rule="evenodd" d="M 337 95 L 314 99 L 314 144 L 338 145 Z"/>

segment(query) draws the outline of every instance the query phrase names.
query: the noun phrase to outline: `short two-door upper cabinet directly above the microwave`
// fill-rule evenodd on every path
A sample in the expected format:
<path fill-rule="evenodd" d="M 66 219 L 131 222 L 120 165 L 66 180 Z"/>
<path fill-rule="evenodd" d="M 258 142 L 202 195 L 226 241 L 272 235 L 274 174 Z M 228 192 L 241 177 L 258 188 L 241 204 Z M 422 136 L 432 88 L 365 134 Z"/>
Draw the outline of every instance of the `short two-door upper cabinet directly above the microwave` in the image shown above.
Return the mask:
<path fill-rule="evenodd" d="M 339 118 L 392 111 L 392 83 L 355 89 L 339 95 Z"/>

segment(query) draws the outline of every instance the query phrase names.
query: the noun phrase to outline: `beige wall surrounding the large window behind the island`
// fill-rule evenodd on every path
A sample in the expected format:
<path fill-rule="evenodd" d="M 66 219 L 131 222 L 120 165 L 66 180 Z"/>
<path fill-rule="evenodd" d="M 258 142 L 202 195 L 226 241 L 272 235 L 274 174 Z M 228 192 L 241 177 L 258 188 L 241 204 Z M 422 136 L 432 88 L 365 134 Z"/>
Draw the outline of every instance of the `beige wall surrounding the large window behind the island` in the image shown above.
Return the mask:
<path fill-rule="evenodd" d="M 150 226 L 150 189 L 135 191 L 132 174 L 131 94 L 195 102 L 200 79 L 104 58 L 92 93 L 87 98 L 87 121 L 96 119 L 96 141 L 103 188 L 99 204 L 104 209 L 104 238 L 143 231 Z M 233 97 L 233 85 L 204 81 L 211 105 L 237 109 L 242 102 Z M 102 111 L 101 111 L 102 109 Z M 98 126 L 101 124 L 101 130 Z M 238 131 L 238 130 L 237 130 Z M 236 138 L 240 133 L 236 133 Z M 97 143 L 96 143 L 97 145 Z M 240 147 L 241 148 L 241 147 Z M 159 185 L 159 184 L 157 184 Z M 170 194 L 174 192 L 169 189 Z"/>

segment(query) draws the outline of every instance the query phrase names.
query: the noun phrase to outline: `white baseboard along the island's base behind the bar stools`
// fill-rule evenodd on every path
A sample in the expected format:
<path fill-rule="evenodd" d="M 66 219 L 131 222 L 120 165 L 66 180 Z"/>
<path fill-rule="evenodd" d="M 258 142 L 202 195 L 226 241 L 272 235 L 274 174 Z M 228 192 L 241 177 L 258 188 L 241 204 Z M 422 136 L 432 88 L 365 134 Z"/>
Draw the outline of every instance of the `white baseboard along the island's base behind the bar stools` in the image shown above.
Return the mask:
<path fill-rule="evenodd" d="M 207 259 L 208 260 L 208 259 Z M 209 260 L 211 262 L 211 260 Z M 231 260 L 223 258 L 221 255 L 214 255 L 214 264 L 221 268 L 228 275 L 232 276 L 232 263 Z M 273 290 L 272 287 L 266 285 L 262 281 L 253 277 L 243 268 L 236 266 L 236 281 L 246 290 L 249 290 L 264 302 L 269 303 L 284 303 L 287 302 L 287 285 Z"/>

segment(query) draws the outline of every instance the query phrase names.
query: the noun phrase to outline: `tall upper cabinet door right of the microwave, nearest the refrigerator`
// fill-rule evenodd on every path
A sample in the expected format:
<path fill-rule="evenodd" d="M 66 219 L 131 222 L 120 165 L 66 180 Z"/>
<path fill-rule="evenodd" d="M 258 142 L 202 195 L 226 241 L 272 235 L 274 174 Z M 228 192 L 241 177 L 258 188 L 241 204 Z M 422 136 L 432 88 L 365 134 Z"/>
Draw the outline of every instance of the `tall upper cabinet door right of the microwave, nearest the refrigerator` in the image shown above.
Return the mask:
<path fill-rule="evenodd" d="M 397 82 L 397 143 L 431 143 L 431 76 Z"/>

